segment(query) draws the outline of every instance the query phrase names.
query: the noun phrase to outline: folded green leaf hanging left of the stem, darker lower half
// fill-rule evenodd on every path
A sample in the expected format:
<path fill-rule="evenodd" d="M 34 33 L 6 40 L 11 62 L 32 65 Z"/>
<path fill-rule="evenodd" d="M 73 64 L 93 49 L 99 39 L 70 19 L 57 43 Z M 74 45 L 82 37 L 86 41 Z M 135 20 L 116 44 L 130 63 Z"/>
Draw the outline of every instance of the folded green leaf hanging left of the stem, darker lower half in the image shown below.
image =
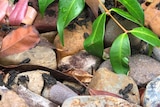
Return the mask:
<path fill-rule="evenodd" d="M 106 13 L 102 13 L 93 23 L 92 34 L 84 41 L 88 53 L 101 57 L 103 55 Z"/>

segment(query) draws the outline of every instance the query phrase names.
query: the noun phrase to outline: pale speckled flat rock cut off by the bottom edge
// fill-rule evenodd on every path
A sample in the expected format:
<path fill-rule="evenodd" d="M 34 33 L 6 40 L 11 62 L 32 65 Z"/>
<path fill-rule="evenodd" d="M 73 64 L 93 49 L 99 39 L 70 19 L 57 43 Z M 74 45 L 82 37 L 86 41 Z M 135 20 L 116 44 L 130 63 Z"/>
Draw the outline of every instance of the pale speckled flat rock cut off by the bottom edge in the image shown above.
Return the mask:
<path fill-rule="evenodd" d="M 141 107 L 112 96 L 76 96 L 65 100 L 62 107 Z"/>

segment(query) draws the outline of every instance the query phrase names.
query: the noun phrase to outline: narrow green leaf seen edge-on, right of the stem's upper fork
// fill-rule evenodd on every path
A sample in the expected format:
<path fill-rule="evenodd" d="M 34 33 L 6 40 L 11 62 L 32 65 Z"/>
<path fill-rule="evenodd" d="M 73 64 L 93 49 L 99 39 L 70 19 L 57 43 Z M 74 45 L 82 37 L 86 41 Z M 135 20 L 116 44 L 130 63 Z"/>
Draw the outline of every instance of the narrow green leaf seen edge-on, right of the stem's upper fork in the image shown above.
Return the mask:
<path fill-rule="evenodd" d="M 132 15 L 130 15 L 128 12 L 122 10 L 122 9 L 119 9 L 119 8 L 112 8 L 110 9 L 110 11 L 114 11 L 116 12 L 117 14 L 121 15 L 122 17 L 140 25 L 140 26 L 143 26 L 136 18 L 134 18 Z"/>

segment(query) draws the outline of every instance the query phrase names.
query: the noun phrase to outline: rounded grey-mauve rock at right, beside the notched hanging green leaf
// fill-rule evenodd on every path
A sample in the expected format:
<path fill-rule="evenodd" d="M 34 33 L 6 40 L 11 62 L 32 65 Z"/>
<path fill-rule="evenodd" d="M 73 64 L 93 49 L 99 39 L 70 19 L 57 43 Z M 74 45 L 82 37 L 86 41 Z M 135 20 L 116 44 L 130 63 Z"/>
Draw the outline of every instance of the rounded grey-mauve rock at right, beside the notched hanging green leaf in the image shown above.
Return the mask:
<path fill-rule="evenodd" d="M 146 55 L 134 55 L 129 58 L 131 76 L 137 85 L 146 85 L 153 78 L 160 75 L 160 62 Z"/>

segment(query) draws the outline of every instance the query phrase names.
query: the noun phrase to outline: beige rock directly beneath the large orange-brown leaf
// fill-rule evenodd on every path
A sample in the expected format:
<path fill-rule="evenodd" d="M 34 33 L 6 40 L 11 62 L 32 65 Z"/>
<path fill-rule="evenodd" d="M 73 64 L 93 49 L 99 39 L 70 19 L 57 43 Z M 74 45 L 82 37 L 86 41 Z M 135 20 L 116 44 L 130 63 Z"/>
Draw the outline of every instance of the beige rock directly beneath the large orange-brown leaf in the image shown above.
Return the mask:
<path fill-rule="evenodd" d="M 28 64 L 40 65 L 51 69 L 56 69 L 56 54 L 51 48 L 36 46 L 30 50 L 9 55 L 0 59 L 2 65 L 17 65 L 24 60 L 30 60 Z"/>

